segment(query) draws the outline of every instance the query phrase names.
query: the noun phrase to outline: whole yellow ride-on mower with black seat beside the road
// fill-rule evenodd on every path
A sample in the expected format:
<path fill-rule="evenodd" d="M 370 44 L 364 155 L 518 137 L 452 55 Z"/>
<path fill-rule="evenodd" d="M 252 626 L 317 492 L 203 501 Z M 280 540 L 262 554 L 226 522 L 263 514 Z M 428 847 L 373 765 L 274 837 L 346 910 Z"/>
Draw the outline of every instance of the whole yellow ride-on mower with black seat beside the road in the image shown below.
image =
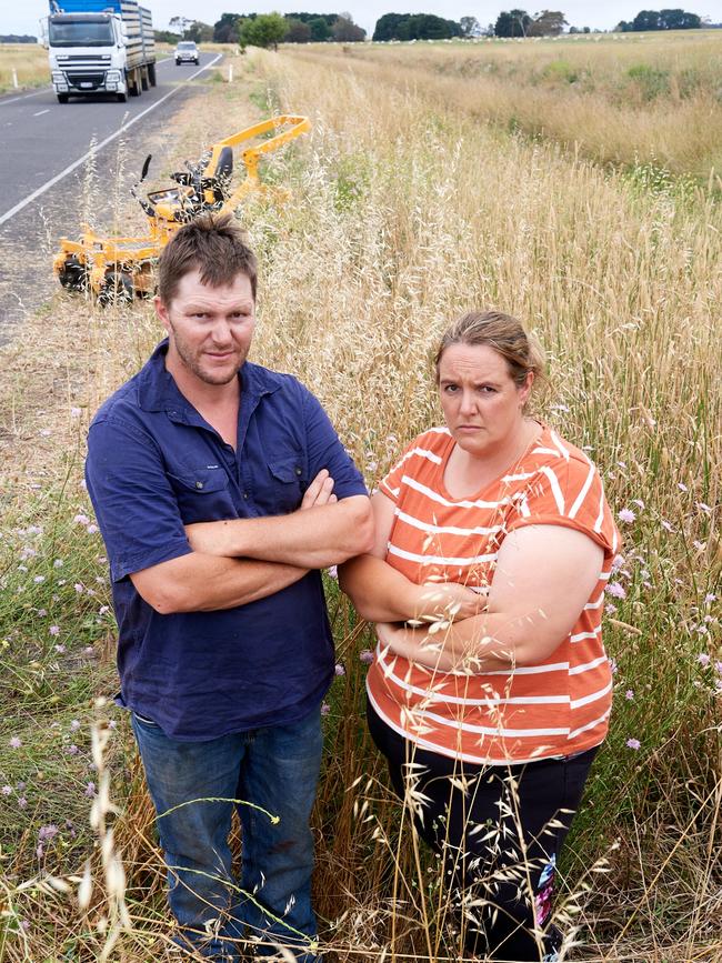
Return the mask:
<path fill-rule="evenodd" d="M 259 163 L 264 154 L 278 150 L 311 129 L 305 117 L 278 114 L 248 127 L 212 144 L 198 163 L 185 162 L 187 170 L 171 174 L 176 185 L 151 191 L 138 199 L 148 217 L 148 234 L 139 238 L 102 238 L 84 225 L 79 241 L 60 239 L 53 271 L 63 288 L 91 291 L 98 300 L 110 303 L 130 301 L 137 294 L 149 297 L 156 287 L 154 264 L 176 231 L 201 214 L 233 212 L 250 193 L 284 195 L 279 188 L 262 183 Z M 245 177 L 233 185 L 233 149 L 255 138 L 273 133 L 241 151 Z M 146 159 L 140 181 L 148 173 Z"/>

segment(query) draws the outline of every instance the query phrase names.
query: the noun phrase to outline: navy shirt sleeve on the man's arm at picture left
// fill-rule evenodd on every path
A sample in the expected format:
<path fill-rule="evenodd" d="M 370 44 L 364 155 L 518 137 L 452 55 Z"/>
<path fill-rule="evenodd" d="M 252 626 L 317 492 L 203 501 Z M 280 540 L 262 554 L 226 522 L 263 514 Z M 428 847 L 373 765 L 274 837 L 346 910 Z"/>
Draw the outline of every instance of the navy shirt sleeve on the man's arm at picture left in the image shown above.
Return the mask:
<path fill-rule="evenodd" d="M 141 428 L 93 423 L 86 482 L 113 581 L 191 552 L 162 455 Z"/>

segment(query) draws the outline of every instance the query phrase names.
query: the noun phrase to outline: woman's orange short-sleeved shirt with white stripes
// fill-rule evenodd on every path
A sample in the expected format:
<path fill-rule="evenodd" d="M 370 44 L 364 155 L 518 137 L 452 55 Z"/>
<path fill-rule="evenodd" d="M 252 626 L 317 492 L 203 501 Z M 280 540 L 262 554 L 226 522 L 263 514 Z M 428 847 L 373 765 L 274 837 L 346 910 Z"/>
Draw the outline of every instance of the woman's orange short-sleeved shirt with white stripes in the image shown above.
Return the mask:
<path fill-rule="evenodd" d="M 445 428 L 427 431 L 381 482 L 395 504 L 390 565 L 417 584 L 451 581 L 483 591 L 508 532 L 562 525 L 601 545 L 602 571 L 572 631 L 543 662 L 479 674 L 441 672 L 379 645 L 369 699 L 407 739 L 469 762 L 529 762 L 599 745 L 612 700 L 601 619 L 619 546 L 599 472 L 582 451 L 543 427 L 512 474 L 485 486 L 480 498 L 454 499 L 443 482 L 453 447 Z"/>

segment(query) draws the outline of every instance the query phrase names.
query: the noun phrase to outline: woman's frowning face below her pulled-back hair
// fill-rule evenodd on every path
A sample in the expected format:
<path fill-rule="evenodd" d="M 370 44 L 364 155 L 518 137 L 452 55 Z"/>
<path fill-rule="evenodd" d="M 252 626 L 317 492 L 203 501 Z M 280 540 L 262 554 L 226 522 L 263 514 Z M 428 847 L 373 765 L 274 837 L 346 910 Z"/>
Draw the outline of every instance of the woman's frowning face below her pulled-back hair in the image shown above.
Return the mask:
<path fill-rule="evenodd" d="M 519 388 L 507 361 L 488 344 L 451 344 L 439 362 L 439 393 L 449 431 L 473 455 L 518 443 L 534 375 Z"/>

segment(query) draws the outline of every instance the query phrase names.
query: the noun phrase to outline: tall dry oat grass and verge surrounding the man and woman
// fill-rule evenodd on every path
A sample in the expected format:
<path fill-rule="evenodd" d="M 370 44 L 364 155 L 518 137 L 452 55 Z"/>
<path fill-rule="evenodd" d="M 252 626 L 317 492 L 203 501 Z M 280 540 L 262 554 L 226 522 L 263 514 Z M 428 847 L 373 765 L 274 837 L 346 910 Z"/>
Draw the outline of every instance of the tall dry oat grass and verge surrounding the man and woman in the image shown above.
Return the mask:
<path fill-rule="evenodd" d="M 263 113 L 314 124 L 267 172 L 291 200 L 243 212 L 262 264 L 254 360 L 317 392 L 373 486 L 403 442 L 440 420 L 430 358 L 454 314 L 494 305 L 535 330 L 552 381 L 540 414 L 588 448 L 628 520 L 605 625 L 612 734 L 564 866 L 562 922 L 584 944 L 569 959 L 719 959 L 719 205 L 672 179 L 604 174 L 480 126 L 434 84 L 390 83 L 383 64 L 298 52 L 252 64 Z M 244 90 L 209 91 L 182 121 L 209 140 L 239 129 Z M 108 708 L 96 725 L 113 733 L 101 766 L 114 773 L 107 802 L 121 806 L 112 850 L 93 852 L 86 829 L 84 793 L 101 786 L 88 768 L 91 694 L 111 694 L 113 676 L 102 544 L 79 484 L 82 425 L 160 331 L 142 304 L 102 312 L 64 295 L 29 323 L 6 352 L 24 373 L 0 397 L 12 455 L 0 960 L 96 959 L 109 936 L 114 959 L 161 960 L 151 810 L 127 725 Z M 459 959 L 435 863 L 364 732 L 359 653 L 371 633 L 331 579 L 328 589 L 343 674 L 328 696 L 314 814 L 323 945 L 338 961 Z M 94 819 L 97 831 L 98 809 Z M 109 875 L 118 850 L 124 894 Z M 80 905 L 48 874 L 80 885 Z"/>

